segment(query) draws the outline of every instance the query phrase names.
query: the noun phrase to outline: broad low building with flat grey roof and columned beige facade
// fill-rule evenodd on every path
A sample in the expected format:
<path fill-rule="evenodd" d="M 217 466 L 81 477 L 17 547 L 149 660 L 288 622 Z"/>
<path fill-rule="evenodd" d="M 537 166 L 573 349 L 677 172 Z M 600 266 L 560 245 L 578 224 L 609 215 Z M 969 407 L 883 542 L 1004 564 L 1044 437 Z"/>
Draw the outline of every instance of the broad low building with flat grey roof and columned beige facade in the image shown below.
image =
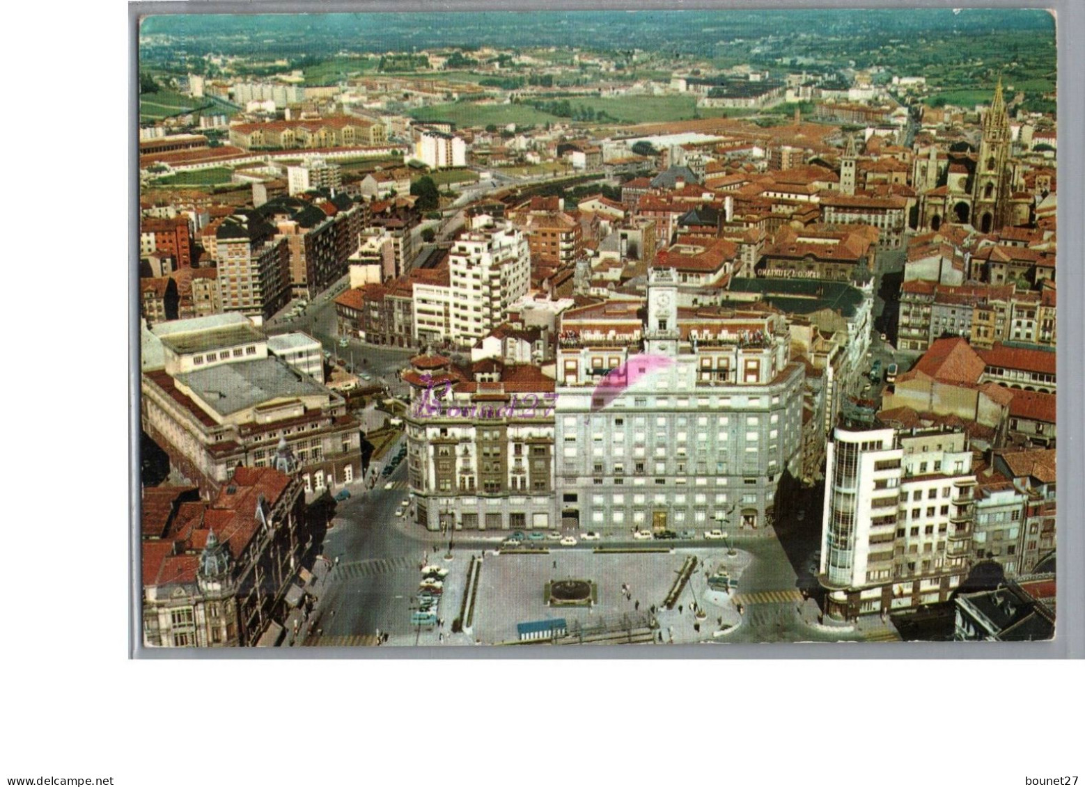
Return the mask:
<path fill-rule="evenodd" d="M 268 465 L 283 437 L 306 491 L 360 477 L 358 425 L 344 400 L 269 357 L 267 337 L 244 317 L 164 323 L 143 333 L 142 354 L 143 429 L 204 494 L 239 465 Z"/>

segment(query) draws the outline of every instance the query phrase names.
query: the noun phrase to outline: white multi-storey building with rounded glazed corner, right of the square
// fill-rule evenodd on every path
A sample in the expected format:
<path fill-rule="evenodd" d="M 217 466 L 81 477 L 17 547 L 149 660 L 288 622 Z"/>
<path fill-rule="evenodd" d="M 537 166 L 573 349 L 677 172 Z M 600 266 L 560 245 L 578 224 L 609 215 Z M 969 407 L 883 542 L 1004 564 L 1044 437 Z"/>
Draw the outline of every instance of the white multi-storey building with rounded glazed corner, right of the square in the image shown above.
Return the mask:
<path fill-rule="evenodd" d="M 852 430 L 827 452 L 819 581 L 851 618 L 944 602 L 969 569 L 972 454 L 958 427 Z"/>

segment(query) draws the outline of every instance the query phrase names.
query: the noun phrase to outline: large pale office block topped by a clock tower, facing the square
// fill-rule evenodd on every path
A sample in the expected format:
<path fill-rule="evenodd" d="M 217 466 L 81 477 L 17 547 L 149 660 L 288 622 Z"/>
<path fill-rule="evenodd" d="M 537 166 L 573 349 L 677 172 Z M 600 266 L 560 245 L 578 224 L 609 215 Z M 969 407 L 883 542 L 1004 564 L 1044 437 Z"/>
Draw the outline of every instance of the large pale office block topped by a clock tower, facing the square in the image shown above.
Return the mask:
<path fill-rule="evenodd" d="M 673 269 L 652 269 L 647 307 L 562 314 L 554 485 L 566 526 L 760 529 L 781 479 L 799 474 L 805 367 L 790 360 L 787 319 L 761 305 L 679 309 L 677 289 Z"/>

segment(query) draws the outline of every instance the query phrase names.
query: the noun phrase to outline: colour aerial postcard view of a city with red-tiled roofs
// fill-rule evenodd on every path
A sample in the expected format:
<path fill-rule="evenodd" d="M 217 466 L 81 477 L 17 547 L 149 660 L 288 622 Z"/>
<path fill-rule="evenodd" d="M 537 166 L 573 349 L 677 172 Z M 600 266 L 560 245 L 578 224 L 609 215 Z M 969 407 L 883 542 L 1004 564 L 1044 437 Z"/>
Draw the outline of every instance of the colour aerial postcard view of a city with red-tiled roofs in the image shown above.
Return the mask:
<path fill-rule="evenodd" d="M 164 14 L 138 69 L 144 647 L 1056 635 L 1048 12 Z"/>

